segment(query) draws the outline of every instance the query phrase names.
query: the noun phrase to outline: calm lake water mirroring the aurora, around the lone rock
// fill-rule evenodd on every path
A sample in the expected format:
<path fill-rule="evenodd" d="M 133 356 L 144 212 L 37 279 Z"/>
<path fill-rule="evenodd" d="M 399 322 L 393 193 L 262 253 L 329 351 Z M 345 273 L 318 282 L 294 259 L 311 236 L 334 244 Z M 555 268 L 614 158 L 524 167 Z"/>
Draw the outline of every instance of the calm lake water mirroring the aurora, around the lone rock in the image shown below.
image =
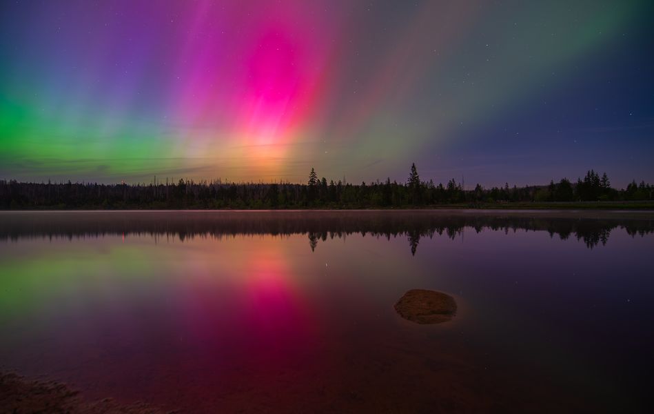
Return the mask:
<path fill-rule="evenodd" d="M 0 368 L 192 413 L 648 412 L 653 232 L 638 212 L 0 213 Z M 401 319 L 411 288 L 458 314 Z"/>

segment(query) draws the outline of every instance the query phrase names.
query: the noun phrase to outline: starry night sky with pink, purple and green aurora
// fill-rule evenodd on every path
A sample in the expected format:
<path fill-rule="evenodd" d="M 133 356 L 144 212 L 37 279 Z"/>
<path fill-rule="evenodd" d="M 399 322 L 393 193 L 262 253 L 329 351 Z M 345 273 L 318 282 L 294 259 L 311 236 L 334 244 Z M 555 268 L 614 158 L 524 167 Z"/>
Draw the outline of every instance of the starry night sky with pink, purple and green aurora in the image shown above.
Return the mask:
<path fill-rule="evenodd" d="M 652 1 L 0 4 L 0 179 L 654 182 Z"/>

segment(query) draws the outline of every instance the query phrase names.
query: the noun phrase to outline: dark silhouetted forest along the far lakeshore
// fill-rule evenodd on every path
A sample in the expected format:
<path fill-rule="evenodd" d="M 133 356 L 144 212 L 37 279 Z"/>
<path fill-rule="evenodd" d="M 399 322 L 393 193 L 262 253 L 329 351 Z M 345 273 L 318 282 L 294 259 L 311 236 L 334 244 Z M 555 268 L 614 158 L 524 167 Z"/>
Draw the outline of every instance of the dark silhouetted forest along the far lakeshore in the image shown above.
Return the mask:
<path fill-rule="evenodd" d="M 351 184 L 323 177 L 311 168 L 307 184 L 227 183 L 221 180 L 179 179 L 165 184 L 25 183 L 0 180 L 1 209 L 39 208 L 407 208 L 447 204 L 546 203 L 551 201 L 645 201 L 654 199 L 654 186 L 632 181 L 625 189 L 611 187 L 606 173 L 586 172 L 575 183 L 563 178 L 549 186 L 513 186 L 472 190 L 454 179 L 447 184 L 422 181 L 416 164 L 406 182 L 375 181 Z"/>

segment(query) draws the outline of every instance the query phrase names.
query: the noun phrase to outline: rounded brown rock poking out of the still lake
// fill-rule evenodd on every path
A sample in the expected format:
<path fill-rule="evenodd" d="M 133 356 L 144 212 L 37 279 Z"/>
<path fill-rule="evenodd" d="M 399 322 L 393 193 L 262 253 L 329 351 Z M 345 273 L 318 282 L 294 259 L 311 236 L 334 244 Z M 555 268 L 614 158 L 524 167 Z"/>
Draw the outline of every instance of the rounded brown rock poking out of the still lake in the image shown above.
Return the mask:
<path fill-rule="evenodd" d="M 395 304 L 401 317 L 418 324 L 440 324 L 456 314 L 456 301 L 436 290 L 411 289 Z"/>

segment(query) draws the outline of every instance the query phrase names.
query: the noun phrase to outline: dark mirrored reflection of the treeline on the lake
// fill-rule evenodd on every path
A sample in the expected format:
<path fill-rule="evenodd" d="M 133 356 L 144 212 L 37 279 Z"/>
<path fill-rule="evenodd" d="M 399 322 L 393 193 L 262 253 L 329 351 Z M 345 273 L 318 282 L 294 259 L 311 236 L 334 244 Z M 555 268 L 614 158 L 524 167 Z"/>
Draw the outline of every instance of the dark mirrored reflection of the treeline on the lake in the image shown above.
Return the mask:
<path fill-rule="evenodd" d="M 415 210 L 415 211 L 245 211 L 245 212 L 26 212 L 0 215 L 0 240 L 34 237 L 103 237 L 150 235 L 221 239 L 236 235 L 306 234 L 311 251 L 328 238 L 358 233 L 373 237 L 405 236 L 415 255 L 423 237 L 463 237 L 465 230 L 546 231 L 562 240 L 574 237 L 586 247 L 604 246 L 611 231 L 644 236 L 654 232 L 648 212 L 564 212 Z"/>

